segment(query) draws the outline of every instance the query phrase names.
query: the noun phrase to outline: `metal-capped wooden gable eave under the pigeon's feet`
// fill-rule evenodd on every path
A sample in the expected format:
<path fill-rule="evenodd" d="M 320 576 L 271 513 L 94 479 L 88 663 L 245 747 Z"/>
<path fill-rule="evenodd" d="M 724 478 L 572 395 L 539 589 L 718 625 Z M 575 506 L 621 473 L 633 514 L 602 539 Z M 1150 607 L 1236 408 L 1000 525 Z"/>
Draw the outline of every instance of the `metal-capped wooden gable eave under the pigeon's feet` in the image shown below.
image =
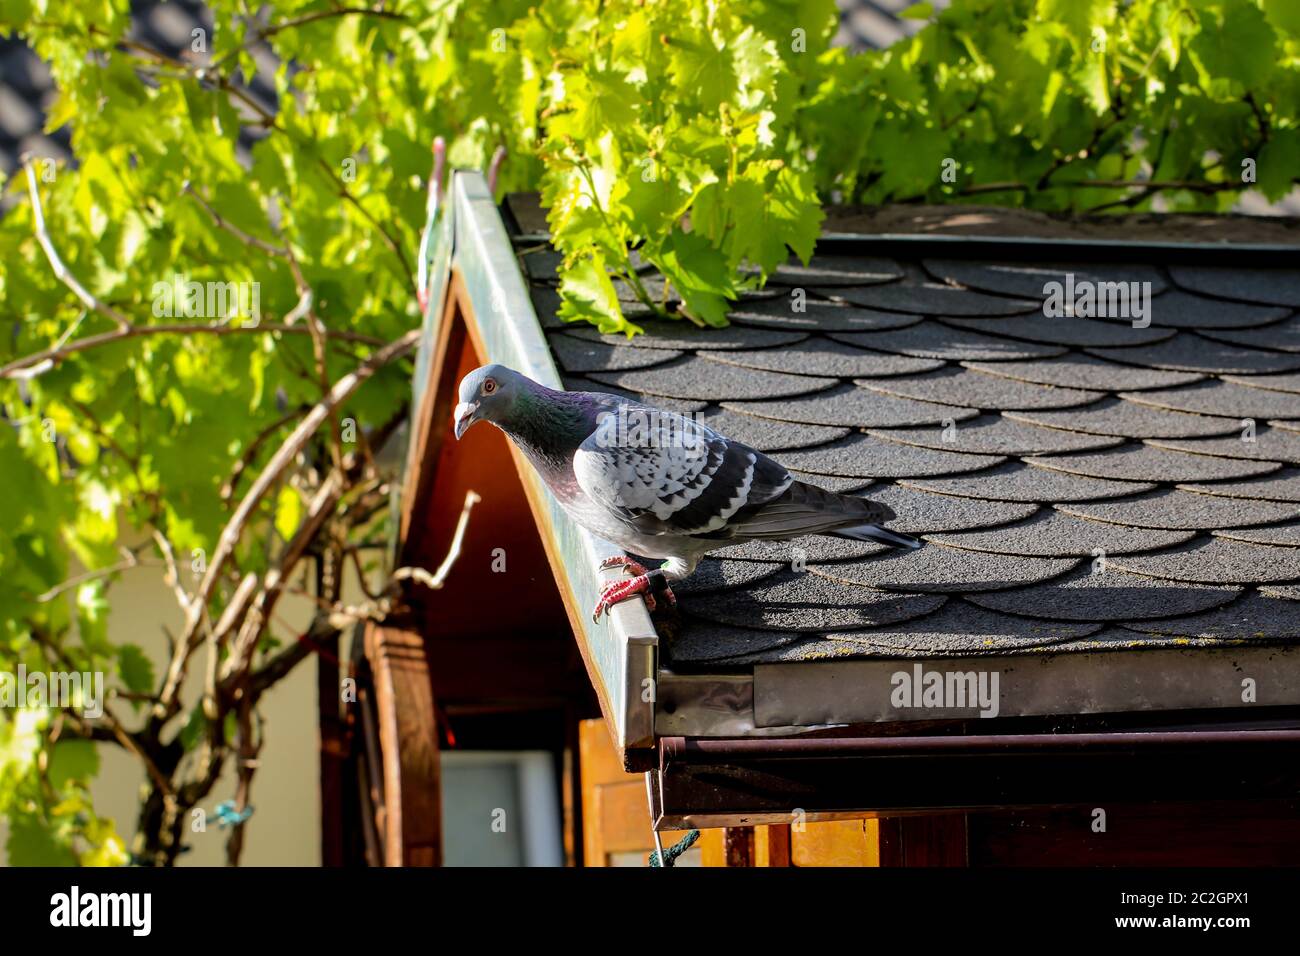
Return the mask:
<path fill-rule="evenodd" d="M 472 479 L 465 476 L 471 485 L 517 483 L 586 675 L 615 747 L 627 761 L 628 750 L 647 752 L 654 743 L 654 704 L 642 697 L 653 697 L 644 695 L 644 688 L 655 674 L 658 637 L 641 600 L 615 606 L 601 623 L 590 618 L 589 609 L 603 580 L 616 575 L 614 571 L 597 572 L 597 567 L 603 558 L 619 551 L 573 524 L 532 466 L 497 429 L 473 429 L 464 441 L 451 438 L 448 442 L 456 389 L 462 376 L 472 368 L 500 363 L 543 385 L 563 388 L 506 225 L 484 177 L 473 172 L 455 173 L 448 199 L 443 229 L 448 230 L 446 239 L 451 252 L 445 274 L 430 276 L 430 284 L 441 291 L 441 302 L 429 306 L 430 320 L 420 346 L 413 432 L 399 505 L 399 561 L 422 558 L 424 551 L 445 548 L 450 538 L 445 518 L 448 502 L 442 501 L 447 492 L 439 489 L 454 483 L 443 481 L 441 471 L 472 472 Z M 511 467 L 500 467 L 507 460 Z M 459 511 L 460 501 L 452 505 L 450 510 Z M 471 529 L 473 524 L 471 519 Z M 536 563 L 541 563 L 540 555 Z M 448 578 L 448 592 L 454 593 L 454 576 L 459 571 L 454 568 Z M 488 568 L 465 570 L 473 575 L 485 572 L 490 575 Z M 463 606 L 462 610 L 484 617 L 498 630 L 510 630 L 528 626 L 530 607 L 526 601 L 511 600 L 491 606 Z"/>

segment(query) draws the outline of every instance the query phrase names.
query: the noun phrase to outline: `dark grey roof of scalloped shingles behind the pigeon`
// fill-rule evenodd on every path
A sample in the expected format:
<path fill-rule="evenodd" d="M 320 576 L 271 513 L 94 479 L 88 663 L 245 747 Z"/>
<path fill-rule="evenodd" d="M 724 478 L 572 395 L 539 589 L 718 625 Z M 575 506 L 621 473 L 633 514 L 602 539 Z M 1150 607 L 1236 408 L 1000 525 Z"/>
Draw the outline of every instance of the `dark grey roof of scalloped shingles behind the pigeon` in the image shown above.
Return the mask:
<path fill-rule="evenodd" d="M 718 551 L 660 626 L 671 666 L 1300 639 L 1296 271 L 823 242 L 729 328 L 650 320 L 628 339 L 559 323 L 556 256 L 529 248 L 569 388 L 701 411 L 930 541 Z M 1149 326 L 1044 316 L 1067 272 L 1150 282 Z"/>

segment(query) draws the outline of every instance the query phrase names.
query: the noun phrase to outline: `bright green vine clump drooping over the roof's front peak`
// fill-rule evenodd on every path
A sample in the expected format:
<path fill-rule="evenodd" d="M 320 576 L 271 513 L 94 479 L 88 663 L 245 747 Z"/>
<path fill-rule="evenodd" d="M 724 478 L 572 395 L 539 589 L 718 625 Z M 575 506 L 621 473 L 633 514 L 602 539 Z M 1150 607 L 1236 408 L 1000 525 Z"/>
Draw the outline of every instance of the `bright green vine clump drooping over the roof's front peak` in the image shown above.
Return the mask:
<path fill-rule="evenodd" d="M 822 221 L 798 113 L 832 0 L 451 4 L 434 44 L 452 156 L 525 161 L 566 261 L 560 315 L 633 333 L 642 312 L 724 325 L 728 302 Z M 455 104 L 451 107 L 450 104 Z M 540 164 L 540 165 L 538 165 Z M 629 250 L 667 280 L 654 298 Z M 667 302 L 680 297 L 680 310 Z"/>

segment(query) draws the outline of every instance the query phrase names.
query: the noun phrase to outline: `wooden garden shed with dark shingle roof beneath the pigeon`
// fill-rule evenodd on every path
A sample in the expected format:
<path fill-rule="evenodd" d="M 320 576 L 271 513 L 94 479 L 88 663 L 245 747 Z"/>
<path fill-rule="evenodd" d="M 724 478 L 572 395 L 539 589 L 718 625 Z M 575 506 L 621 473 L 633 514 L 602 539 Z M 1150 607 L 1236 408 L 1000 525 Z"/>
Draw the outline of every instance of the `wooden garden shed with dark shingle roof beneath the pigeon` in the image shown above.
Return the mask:
<path fill-rule="evenodd" d="M 395 554 L 458 557 L 358 641 L 373 858 L 441 860 L 439 753 L 471 747 L 554 754 L 571 864 L 644 862 L 651 827 L 718 865 L 1295 862 L 1297 246 L 832 209 L 727 328 L 629 299 L 627 338 L 556 317 L 536 198 L 456 173 Z M 698 414 L 927 546 L 734 546 L 676 611 L 593 623 L 612 545 L 500 432 L 451 436 L 490 362 Z"/>

